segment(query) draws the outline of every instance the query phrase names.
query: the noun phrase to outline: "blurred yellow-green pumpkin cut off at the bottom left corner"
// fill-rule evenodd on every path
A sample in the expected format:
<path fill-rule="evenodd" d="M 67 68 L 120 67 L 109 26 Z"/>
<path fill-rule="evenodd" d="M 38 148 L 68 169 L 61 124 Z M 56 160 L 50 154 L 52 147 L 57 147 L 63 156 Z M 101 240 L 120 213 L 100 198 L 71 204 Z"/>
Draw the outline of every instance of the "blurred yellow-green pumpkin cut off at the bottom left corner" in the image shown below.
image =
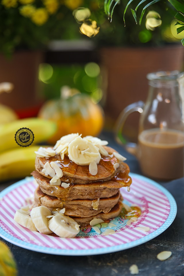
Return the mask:
<path fill-rule="evenodd" d="M 0 275 L 16 276 L 17 266 L 10 248 L 0 241 Z"/>

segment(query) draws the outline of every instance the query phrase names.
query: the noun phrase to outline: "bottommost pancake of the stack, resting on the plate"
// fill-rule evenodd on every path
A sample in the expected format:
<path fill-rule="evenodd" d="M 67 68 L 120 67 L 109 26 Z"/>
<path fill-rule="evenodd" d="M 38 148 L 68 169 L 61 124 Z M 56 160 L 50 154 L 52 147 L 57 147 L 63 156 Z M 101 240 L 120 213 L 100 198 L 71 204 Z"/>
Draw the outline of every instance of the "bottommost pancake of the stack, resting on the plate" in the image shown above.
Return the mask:
<path fill-rule="evenodd" d="M 95 216 L 91 216 L 91 217 L 88 217 L 88 218 L 77 218 L 77 217 L 72 217 L 74 219 L 74 221 L 76 221 L 79 225 L 81 225 L 82 227 L 83 226 L 86 226 L 86 225 L 89 225 L 90 221 L 93 219 L 93 218 L 101 218 L 103 219 L 104 221 L 108 220 L 108 219 L 111 219 L 111 218 L 115 218 L 116 216 L 119 216 L 120 212 L 122 211 L 122 202 L 119 201 L 107 214 L 101 212 Z"/>

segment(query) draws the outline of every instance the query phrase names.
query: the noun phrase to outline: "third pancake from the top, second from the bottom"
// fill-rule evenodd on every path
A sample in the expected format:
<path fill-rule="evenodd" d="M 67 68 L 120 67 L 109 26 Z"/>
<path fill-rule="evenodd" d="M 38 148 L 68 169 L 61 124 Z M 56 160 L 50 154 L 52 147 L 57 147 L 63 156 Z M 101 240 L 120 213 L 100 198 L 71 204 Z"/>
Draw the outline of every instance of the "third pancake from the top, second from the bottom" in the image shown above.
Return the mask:
<path fill-rule="evenodd" d="M 94 200 L 76 199 L 63 201 L 43 193 L 39 187 L 34 192 L 33 207 L 46 206 L 51 211 L 65 208 L 65 215 L 75 217 L 90 217 L 100 212 L 108 213 L 117 203 L 122 200 L 120 192 L 110 198 L 99 198 Z M 92 206 L 93 205 L 93 206 Z"/>

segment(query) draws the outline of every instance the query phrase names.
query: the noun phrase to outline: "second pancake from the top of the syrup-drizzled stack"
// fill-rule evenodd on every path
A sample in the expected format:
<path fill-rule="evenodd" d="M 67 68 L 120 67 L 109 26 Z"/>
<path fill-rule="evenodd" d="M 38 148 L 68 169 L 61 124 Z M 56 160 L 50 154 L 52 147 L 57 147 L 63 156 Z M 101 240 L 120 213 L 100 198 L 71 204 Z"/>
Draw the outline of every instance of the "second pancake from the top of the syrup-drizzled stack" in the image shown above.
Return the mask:
<path fill-rule="evenodd" d="M 93 199 L 108 198 L 114 196 L 122 185 L 116 181 L 98 181 L 88 184 L 70 184 L 68 188 L 50 185 L 47 177 L 40 175 L 37 171 L 31 173 L 43 193 L 57 198 L 74 199 Z M 125 183 L 126 185 L 126 183 Z"/>

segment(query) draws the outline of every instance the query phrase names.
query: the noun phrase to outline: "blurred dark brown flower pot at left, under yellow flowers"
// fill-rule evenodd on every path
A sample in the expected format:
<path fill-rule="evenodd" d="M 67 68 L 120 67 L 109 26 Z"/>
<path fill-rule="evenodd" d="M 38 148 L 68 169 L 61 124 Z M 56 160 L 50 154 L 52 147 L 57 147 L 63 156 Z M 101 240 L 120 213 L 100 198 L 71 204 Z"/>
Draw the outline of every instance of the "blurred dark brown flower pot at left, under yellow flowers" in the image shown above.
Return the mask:
<path fill-rule="evenodd" d="M 20 51 L 9 59 L 0 55 L 0 83 L 11 82 L 11 93 L 0 95 L 1 104 L 13 108 L 20 118 L 36 116 L 41 105 L 41 91 L 38 79 L 42 53 Z"/>

